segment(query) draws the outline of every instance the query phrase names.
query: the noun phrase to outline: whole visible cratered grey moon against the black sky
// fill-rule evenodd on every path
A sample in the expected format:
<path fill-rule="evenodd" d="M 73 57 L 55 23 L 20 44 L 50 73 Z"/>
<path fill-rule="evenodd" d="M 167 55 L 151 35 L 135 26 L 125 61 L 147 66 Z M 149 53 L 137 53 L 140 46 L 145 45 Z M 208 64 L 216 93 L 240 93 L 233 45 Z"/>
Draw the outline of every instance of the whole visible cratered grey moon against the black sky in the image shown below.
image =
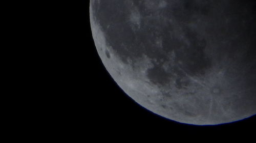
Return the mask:
<path fill-rule="evenodd" d="M 256 114 L 256 1 L 91 0 L 94 42 L 119 87 L 181 123 Z"/>

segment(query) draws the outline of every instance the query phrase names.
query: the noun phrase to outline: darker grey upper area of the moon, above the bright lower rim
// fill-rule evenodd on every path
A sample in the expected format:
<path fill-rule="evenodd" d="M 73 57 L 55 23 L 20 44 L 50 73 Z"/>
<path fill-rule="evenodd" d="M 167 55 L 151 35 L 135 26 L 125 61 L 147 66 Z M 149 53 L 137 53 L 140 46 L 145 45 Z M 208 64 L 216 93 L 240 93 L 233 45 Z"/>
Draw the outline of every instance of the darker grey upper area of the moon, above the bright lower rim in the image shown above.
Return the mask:
<path fill-rule="evenodd" d="M 175 78 L 182 90 L 191 84 L 188 76 L 202 77 L 218 67 L 244 94 L 238 112 L 256 112 L 256 1 L 95 0 L 92 7 L 122 62 L 152 59 L 146 73 L 152 83 L 164 86 Z M 111 58 L 108 50 L 105 54 Z"/>

